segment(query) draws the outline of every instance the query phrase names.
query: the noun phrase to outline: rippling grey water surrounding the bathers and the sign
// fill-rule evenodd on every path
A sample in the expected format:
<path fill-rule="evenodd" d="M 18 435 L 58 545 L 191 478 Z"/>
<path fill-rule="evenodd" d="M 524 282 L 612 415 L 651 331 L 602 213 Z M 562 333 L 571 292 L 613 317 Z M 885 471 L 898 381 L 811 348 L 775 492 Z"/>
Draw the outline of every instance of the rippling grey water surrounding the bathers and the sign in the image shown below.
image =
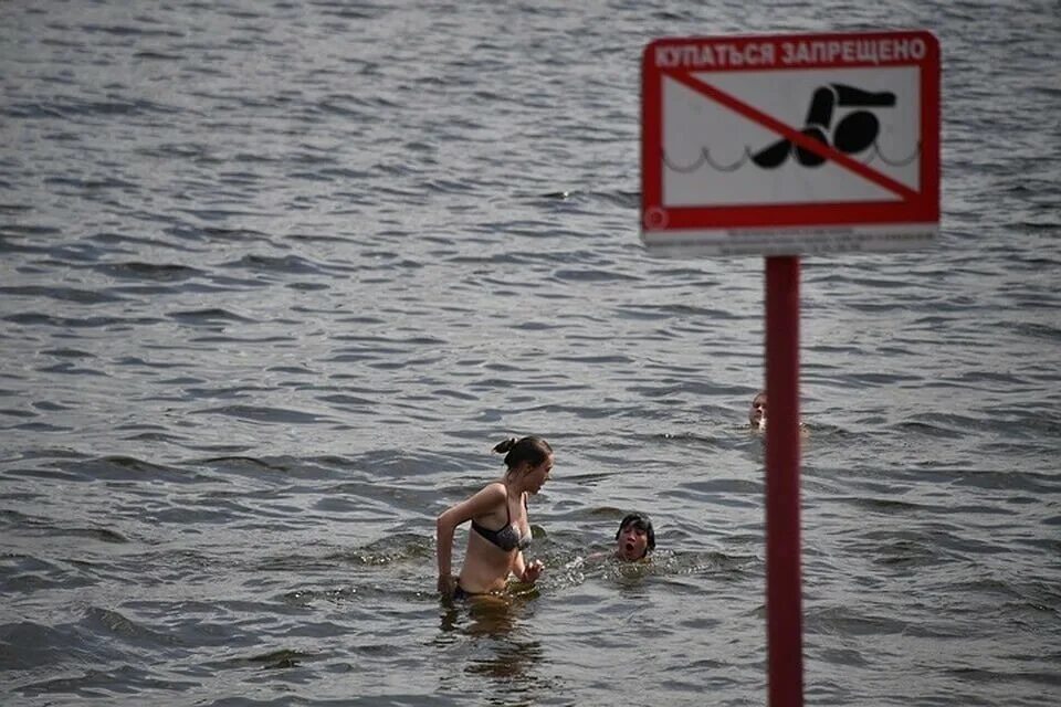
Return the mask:
<path fill-rule="evenodd" d="M 806 701 L 1054 704 L 1057 3 L 2 14 L 3 704 L 764 704 L 763 262 L 644 254 L 639 56 L 874 28 L 939 36 L 944 219 L 802 263 Z M 547 573 L 449 608 L 526 433 Z"/>

